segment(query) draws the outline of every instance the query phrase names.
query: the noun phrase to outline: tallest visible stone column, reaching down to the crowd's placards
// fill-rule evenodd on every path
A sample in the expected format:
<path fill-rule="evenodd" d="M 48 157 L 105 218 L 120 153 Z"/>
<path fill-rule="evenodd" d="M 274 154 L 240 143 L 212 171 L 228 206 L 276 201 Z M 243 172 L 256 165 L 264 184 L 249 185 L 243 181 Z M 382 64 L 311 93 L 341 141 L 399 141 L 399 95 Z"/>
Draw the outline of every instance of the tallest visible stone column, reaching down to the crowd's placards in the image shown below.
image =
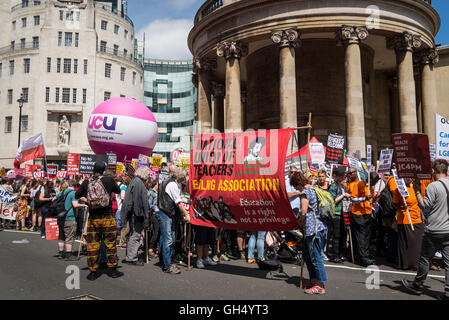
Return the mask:
<path fill-rule="evenodd" d="M 343 26 L 340 40 L 346 45 L 346 134 L 348 154 L 360 151 L 366 157 L 365 112 L 363 107 L 362 59 L 360 41 L 368 37 L 365 27 Z"/>

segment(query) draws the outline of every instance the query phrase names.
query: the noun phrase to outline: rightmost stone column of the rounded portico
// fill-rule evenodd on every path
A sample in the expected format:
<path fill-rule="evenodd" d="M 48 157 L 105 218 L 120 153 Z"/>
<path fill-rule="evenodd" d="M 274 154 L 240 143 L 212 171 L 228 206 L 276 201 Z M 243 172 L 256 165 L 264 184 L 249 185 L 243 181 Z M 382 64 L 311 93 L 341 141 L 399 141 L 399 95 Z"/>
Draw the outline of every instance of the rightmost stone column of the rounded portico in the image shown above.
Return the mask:
<path fill-rule="evenodd" d="M 429 136 L 430 143 L 435 144 L 435 114 L 438 113 L 438 100 L 433 68 L 438 63 L 439 56 L 435 48 L 424 50 L 419 56 L 422 64 L 423 131 Z"/>

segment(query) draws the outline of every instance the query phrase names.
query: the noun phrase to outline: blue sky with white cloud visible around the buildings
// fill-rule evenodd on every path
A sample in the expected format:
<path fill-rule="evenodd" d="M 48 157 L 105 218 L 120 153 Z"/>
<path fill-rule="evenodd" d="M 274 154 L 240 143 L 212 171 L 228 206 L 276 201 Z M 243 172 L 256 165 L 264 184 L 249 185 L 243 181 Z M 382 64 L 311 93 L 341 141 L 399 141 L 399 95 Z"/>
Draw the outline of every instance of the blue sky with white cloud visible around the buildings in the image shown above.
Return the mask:
<path fill-rule="evenodd" d="M 0 0 L 1 1 L 1 0 Z M 205 0 L 128 0 L 128 15 L 139 39 L 146 35 L 146 56 L 191 59 L 187 35 L 193 18 Z M 449 0 L 432 0 L 441 16 L 437 44 L 449 45 Z"/>

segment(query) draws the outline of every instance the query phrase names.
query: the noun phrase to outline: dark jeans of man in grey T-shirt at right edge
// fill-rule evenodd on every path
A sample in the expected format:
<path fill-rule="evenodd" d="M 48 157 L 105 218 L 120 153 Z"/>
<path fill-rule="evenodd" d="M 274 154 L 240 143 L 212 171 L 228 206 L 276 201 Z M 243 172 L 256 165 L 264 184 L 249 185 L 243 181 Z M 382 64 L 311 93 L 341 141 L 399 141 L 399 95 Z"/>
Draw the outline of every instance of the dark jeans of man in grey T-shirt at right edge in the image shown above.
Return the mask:
<path fill-rule="evenodd" d="M 429 273 L 430 261 L 437 251 L 440 251 L 443 256 L 446 271 L 444 294 L 449 298 L 449 234 L 432 235 L 424 233 L 418 273 L 415 277 L 415 285 L 423 287 L 424 281 Z"/>

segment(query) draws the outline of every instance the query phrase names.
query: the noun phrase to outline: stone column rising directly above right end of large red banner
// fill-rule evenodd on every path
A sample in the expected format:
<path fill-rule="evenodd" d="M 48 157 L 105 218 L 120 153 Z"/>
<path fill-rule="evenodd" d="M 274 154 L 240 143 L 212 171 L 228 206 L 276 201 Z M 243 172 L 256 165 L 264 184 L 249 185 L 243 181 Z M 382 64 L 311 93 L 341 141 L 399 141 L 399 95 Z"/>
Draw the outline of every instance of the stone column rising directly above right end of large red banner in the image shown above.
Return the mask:
<path fill-rule="evenodd" d="M 295 48 L 300 45 L 298 32 L 293 29 L 275 31 L 271 40 L 278 44 L 279 50 L 279 106 L 281 110 L 280 127 L 296 128 L 298 111 L 296 101 Z"/>

